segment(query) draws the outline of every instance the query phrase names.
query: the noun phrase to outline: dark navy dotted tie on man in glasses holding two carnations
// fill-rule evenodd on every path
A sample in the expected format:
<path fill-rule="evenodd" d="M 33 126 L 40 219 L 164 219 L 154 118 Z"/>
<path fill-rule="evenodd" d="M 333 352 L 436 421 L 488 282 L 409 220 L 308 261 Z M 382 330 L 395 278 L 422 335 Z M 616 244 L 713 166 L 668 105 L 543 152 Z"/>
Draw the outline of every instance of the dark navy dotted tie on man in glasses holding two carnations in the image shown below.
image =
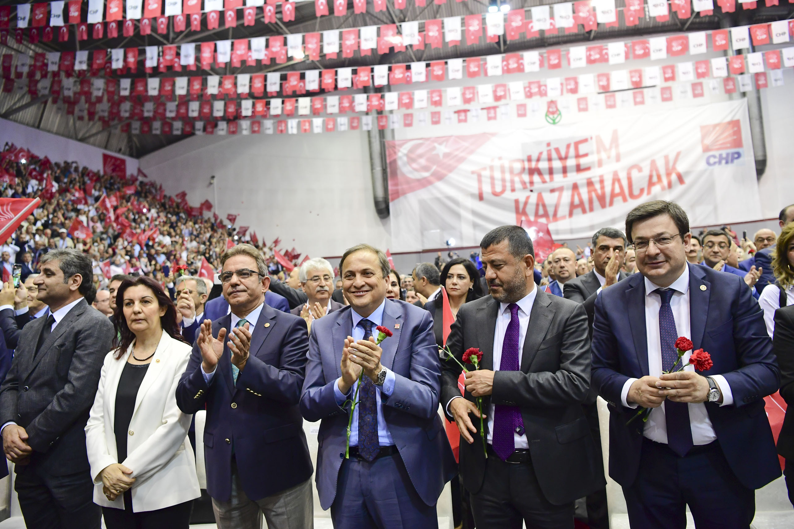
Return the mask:
<path fill-rule="evenodd" d="M 654 290 L 661 298 L 659 309 L 659 341 L 661 343 L 661 369 L 673 370 L 676 367 L 678 353 L 676 352 L 676 320 L 673 317 L 673 308 L 670 299 L 673 298 L 673 289 Z M 689 406 L 685 402 L 665 401 L 665 423 L 667 424 L 667 446 L 676 454 L 684 457 L 692 448 L 692 427 L 689 423 Z"/>

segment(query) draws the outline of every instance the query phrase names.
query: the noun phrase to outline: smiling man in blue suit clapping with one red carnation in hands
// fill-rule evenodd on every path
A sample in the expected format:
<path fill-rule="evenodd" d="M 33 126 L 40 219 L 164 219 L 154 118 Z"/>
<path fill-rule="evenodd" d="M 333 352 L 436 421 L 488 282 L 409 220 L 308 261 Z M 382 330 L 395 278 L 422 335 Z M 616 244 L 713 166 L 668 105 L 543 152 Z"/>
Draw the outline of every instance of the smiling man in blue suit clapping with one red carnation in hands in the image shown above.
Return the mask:
<path fill-rule="evenodd" d="M 301 395 L 304 418 L 322 420 L 320 504 L 331 509 L 334 527 L 438 527 L 436 502 L 457 470 L 438 415 L 433 319 L 386 299 L 390 267 L 383 251 L 359 244 L 345 251 L 339 267 L 350 305 L 312 324 Z M 392 333 L 380 346 L 373 338 L 379 325 Z M 350 417 L 353 398 L 358 404 Z"/>

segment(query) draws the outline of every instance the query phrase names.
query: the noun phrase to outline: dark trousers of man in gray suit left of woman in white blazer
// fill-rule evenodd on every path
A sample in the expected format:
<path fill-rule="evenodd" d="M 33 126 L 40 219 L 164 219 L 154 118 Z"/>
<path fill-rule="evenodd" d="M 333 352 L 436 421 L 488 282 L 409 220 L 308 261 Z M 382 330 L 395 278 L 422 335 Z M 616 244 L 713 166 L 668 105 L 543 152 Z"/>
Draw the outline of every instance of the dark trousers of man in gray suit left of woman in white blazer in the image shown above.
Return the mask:
<path fill-rule="evenodd" d="M 99 529 L 102 510 L 94 504 L 91 473 L 52 476 L 36 463 L 17 466 L 13 489 L 28 529 Z"/>

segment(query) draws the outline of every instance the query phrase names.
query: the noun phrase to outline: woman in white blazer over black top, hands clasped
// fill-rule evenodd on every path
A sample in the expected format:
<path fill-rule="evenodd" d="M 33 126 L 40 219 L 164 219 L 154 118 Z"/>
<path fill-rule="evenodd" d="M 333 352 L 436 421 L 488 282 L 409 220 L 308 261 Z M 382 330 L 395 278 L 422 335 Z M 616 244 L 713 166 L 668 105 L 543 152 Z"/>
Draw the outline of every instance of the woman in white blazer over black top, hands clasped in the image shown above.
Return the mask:
<path fill-rule="evenodd" d="M 126 279 L 116 294 L 118 348 L 102 366 L 86 424 L 94 503 L 108 529 L 187 529 L 201 496 L 176 385 L 191 347 L 173 301 L 152 278 Z"/>

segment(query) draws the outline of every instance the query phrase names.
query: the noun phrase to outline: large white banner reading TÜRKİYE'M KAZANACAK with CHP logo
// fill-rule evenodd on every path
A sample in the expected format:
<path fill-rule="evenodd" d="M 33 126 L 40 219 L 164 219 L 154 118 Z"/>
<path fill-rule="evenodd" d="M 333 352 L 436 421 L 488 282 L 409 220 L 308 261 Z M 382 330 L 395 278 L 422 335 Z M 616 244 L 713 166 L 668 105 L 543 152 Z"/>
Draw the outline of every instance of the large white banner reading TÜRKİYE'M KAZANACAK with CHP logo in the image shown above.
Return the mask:
<path fill-rule="evenodd" d="M 573 125 L 387 141 L 392 250 L 476 246 L 501 224 L 549 224 L 555 240 L 623 229 L 673 200 L 692 225 L 761 218 L 745 99 Z"/>

